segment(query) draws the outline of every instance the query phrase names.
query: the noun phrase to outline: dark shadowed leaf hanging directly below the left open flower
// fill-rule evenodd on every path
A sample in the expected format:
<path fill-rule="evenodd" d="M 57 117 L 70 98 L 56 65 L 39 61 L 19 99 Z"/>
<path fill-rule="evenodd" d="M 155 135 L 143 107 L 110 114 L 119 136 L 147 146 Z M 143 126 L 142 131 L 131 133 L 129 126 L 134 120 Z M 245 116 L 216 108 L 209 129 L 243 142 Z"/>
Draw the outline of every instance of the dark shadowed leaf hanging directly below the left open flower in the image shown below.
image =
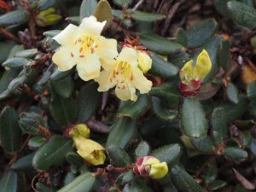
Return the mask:
<path fill-rule="evenodd" d="M 102 94 L 97 90 L 98 85 L 90 82 L 85 84 L 79 92 L 78 108 L 77 108 L 77 121 L 83 123 L 90 119 L 93 113 L 96 112 L 101 102 Z"/>

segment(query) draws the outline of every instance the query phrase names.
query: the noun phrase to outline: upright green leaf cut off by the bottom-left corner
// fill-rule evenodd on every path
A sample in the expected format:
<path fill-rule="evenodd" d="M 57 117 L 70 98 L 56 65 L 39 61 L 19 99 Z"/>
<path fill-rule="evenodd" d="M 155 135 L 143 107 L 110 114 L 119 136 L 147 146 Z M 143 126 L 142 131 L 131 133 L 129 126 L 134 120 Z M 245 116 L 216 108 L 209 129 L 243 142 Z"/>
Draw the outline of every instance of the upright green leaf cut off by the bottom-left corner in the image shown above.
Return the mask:
<path fill-rule="evenodd" d="M 0 179 L 0 192 L 16 192 L 18 177 L 16 172 L 5 172 Z"/>

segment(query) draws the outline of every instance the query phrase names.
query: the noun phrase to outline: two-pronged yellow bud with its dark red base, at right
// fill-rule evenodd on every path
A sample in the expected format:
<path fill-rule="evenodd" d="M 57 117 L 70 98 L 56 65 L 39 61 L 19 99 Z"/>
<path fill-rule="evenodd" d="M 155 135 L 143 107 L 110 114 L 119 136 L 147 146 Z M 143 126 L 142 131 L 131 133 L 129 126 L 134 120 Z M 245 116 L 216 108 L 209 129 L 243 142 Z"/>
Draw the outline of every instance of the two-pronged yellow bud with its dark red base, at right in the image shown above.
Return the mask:
<path fill-rule="evenodd" d="M 193 60 L 185 63 L 180 70 L 179 76 L 181 79 L 180 90 L 184 96 L 196 96 L 201 87 L 201 81 L 207 76 L 212 69 L 212 61 L 203 49 L 198 55 L 196 65 L 193 66 Z"/>

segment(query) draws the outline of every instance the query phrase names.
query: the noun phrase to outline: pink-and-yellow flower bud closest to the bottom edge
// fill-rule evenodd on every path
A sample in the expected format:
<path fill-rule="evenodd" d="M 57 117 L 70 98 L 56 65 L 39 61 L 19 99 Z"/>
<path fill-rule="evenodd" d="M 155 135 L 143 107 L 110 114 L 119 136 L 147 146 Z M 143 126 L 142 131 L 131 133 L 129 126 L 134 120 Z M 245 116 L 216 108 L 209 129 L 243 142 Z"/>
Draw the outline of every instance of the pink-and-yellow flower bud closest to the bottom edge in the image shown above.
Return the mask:
<path fill-rule="evenodd" d="M 137 158 L 137 162 L 133 167 L 133 172 L 142 177 L 152 177 L 159 179 L 165 177 L 168 172 L 166 162 L 160 163 L 160 160 L 153 156 L 145 156 Z"/>

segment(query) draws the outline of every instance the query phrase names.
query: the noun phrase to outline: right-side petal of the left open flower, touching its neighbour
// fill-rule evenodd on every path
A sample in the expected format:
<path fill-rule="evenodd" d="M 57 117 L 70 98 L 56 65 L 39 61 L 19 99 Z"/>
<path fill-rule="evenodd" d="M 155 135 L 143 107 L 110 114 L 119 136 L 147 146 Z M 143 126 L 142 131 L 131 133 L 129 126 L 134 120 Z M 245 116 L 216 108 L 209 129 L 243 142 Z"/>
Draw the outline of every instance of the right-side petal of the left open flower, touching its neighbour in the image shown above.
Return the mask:
<path fill-rule="evenodd" d="M 102 67 L 105 69 L 109 68 L 109 65 L 113 65 L 111 60 L 119 55 L 117 51 L 117 41 L 113 38 L 104 38 L 100 36 L 96 54 L 99 55 L 100 60 L 102 61 Z"/>

